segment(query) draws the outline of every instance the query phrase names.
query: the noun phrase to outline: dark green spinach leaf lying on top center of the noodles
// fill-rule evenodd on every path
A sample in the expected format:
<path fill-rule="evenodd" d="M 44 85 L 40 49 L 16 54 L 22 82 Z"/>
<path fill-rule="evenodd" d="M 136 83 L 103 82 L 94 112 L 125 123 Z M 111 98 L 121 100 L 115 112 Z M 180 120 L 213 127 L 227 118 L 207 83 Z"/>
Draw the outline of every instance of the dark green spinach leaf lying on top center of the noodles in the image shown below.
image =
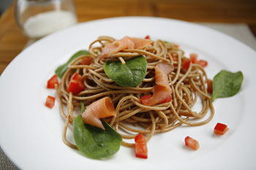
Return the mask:
<path fill-rule="evenodd" d="M 129 59 L 122 64 L 120 61 L 106 61 L 104 71 L 116 84 L 124 87 L 135 87 L 146 76 L 148 63 L 143 55 Z"/>

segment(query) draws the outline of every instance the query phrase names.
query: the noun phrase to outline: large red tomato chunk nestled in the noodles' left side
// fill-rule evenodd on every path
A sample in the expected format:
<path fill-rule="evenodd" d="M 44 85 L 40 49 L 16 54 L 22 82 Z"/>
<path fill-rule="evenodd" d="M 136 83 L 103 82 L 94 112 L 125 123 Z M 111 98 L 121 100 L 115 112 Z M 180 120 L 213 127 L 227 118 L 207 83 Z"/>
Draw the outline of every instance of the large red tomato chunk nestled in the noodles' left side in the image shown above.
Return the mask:
<path fill-rule="evenodd" d="M 67 91 L 78 94 L 81 91 L 85 89 L 85 86 L 83 84 L 82 76 L 75 72 L 69 82 L 69 87 L 67 88 Z"/>

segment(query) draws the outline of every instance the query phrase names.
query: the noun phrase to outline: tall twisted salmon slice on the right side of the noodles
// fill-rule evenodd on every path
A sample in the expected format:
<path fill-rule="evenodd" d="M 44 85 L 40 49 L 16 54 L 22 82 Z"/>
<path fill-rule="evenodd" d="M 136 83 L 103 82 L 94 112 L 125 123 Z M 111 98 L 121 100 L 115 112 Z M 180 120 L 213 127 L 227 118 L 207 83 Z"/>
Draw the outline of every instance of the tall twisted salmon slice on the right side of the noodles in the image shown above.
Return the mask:
<path fill-rule="evenodd" d="M 169 85 L 167 74 L 170 74 L 174 69 L 173 65 L 169 63 L 158 63 L 154 67 L 155 83 L 153 88 L 153 96 L 141 100 L 141 103 L 147 106 L 154 106 L 155 104 L 169 102 L 172 99 L 172 90 Z"/>

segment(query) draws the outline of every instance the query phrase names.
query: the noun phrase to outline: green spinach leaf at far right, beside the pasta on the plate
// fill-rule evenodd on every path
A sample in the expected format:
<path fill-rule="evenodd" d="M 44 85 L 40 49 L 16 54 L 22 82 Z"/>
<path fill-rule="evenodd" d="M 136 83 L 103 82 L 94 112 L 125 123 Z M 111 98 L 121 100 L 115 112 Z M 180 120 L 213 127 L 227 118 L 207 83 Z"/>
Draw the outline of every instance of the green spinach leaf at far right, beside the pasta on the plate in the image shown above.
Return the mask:
<path fill-rule="evenodd" d="M 236 95 L 241 88 L 244 76 L 242 72 L 228 72 L 222 70 L 213 80 L 213 93 L 211 101 L 215 98 L 225 98 Z"/>

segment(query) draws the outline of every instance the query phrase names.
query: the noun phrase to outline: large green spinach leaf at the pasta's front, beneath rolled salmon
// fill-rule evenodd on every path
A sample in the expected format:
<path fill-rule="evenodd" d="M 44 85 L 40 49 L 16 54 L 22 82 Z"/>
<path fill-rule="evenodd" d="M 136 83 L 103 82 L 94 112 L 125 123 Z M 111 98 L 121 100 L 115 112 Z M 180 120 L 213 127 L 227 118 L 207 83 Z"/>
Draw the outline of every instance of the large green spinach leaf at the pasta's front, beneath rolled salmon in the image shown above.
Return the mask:
<path fill-rule="evenodd" d="M 89 158 L 106 158 L 120 148 L 121 135 L 104 120 L 102 123 L 105 130 L 83 123 L 81 115 L 75 117 L 73 122 L 75 144 Z"/>

